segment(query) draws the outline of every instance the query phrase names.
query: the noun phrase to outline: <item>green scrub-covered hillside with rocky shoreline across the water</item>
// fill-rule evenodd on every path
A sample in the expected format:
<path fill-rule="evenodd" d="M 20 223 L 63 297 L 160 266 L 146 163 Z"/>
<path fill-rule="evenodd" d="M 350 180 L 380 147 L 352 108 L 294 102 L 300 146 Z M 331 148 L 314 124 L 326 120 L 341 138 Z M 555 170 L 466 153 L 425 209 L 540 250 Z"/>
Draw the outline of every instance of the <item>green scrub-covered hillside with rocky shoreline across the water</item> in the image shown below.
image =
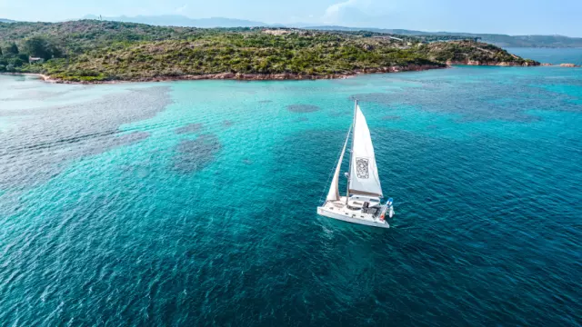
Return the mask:
<path fill-rule="evenodd" d="M 0 49 L 0 71 L 87 82 L 208 74 L 327 78 L 436 68 L 447 61 L 538 64 L 470 41 L 425 44 L 415 37 L 371 32 L 199 29 L 96 20 L 0 23 Z M 42 59 L 29 63 L 29 56 Z"/>

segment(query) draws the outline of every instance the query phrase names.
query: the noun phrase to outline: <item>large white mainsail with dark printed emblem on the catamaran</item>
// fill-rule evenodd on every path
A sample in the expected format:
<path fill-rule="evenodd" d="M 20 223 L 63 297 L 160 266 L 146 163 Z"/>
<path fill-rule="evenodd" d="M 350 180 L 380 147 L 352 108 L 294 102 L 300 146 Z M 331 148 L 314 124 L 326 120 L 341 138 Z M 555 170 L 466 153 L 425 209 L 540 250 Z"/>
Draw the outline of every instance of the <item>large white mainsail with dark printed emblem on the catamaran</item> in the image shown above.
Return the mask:
<path fill-rule="evenodd" d="M 352 144 L 351 172 L 349 173 L 349 193 L 382 197 L 382 186 L 378 177 L 376 156 L 366 117 L 356 105 L 354 137 Z"/>

